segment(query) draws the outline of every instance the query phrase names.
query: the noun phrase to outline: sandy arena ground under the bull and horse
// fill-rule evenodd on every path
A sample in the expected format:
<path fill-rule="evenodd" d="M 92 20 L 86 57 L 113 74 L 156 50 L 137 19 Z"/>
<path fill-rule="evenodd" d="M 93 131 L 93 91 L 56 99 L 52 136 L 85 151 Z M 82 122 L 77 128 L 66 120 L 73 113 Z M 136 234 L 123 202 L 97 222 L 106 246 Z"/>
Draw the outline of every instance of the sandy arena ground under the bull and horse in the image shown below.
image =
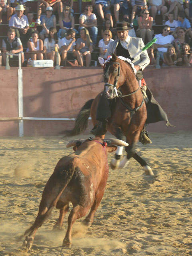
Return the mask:
<path fill-rule="evenodd" d="M 0 255 L 192 255 L 192 135 L 153 133 L 150 137 L 153 144 L 139 143 L 137 150 L 155 178 L 146 176 L 134 159 L 126 169 L 110 169 L 91 228 L 81 230 L 83 219 L 77 220 L 73 230 L 79 233 L 72 247 L 61 247 L 68 214 L 63 230 L 53 231 L 59 216 L 55 209 L 36 233 L 28 254 L 21 251 L 18 238 L 34 222 L 57 161 L 72 152 L 65 148 L 70 139 L 0 138 Z M 109 154 L 109 162 L 113 155 Z"/>

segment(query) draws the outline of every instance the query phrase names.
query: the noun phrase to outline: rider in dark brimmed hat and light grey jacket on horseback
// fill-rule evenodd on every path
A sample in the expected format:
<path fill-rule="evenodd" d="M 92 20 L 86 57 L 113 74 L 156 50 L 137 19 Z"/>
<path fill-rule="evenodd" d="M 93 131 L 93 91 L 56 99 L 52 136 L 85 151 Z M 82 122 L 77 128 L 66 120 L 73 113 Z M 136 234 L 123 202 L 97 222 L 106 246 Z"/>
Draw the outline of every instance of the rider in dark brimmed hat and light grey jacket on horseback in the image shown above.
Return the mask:
<path fill-rule="evenodd" d="M 116 28 L 114 30 L 117 31 L 118 39 L 110 43 L 109 48 L 105 54 L 105 59 L 112 55 L 112 53 L 115 53 L 117 56 L 123 56 L 132 60 L 133 64 L 135 65 L 135 69 L 137 70 L 136 78 L 139 84 L 142 85 L 142 91 L 144 95 L 147 96 L 146 101 L 148 101 L 148 103 L 146 104 L 146 124 L 165 120 L 167 122 L 167 126 L 169 126 L 170 123 L 168 122 L 166 113 L 164 110 L 162 110 L 158 102 L 156 102 L 156 100 L 153 98 L 152 93 L 146 86 L 143 78 L 142 71 L 150 63 L 147 51 L 144 50 L 140 55 L 137 55 L 135 59 L 132 58 L 135 54 L 137 54 L 137 52 L 143 49 L 144 43 L 141 38 L 129 36 L 130 29 L 131 27 L 129 22 L 117 22 Z M 99 100 L 96 113 L 96 120 L 99 122 L 93 127 L 91 134 L 95 136 L 101 136 L 105 134 L 107 118 L 110 116 L 110 100 L 108 100 L 103 93 Z M 152 143 L 150 138 L 148 138 L 148 133 L 146 132 L 145 128 L 143 128 L 139 140 L 143 144 Z"/>

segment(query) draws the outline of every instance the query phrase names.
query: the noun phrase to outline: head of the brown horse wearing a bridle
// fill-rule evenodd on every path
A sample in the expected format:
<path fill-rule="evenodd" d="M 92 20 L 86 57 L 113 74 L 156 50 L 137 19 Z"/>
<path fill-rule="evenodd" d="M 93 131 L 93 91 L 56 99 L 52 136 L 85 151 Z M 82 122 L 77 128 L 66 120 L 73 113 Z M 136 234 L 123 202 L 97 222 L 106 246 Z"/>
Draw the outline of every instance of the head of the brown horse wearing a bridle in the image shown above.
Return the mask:
<path fill-rule="evenodd" d="M 117 89 L 123 84 L 120 77 L 120 63 L 115 54 L 112 54 L 112 58 L 105 64 L 104 68 L 104 93 L 108 99 L 115 98 Z"/>

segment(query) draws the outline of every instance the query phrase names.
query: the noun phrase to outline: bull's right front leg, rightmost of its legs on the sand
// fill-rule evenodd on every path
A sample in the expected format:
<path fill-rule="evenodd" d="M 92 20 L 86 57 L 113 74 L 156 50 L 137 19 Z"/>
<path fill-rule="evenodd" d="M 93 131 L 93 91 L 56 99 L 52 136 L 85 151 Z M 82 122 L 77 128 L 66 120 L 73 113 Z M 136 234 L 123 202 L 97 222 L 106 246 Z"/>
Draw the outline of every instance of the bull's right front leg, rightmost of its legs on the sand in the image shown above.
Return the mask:
<path fill-rule="evenodd" d="M 83 224 L 85 226 L 89 227 L 93 223 L 93 218 L 95 216 L 95 212 L 96 212 L 97 208 L 99 207 L 99 204 L 103 198 L 104 191 L 105 191 L 105 189 L 103 189 L 103 191 L 99 192 L 98 194 L 97 194 L 97 192 L 95 193 L 95 200 L 94 200 L 93 206 L 91 207 L 89 214 L 83 221 Z"/>

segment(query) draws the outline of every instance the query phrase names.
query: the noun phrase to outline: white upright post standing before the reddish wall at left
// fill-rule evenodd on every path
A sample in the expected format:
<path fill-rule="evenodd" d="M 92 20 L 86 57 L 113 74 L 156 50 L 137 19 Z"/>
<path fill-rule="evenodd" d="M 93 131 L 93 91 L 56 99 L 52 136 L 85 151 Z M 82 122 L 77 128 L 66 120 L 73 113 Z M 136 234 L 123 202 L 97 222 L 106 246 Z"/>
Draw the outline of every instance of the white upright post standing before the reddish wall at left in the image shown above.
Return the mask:
<path fill-rule="evenodd" d="M 19 54 L 19 69 L 18 69 L 18 114 L 23 118 L 23 70 L 21 69 L 21 55 Z M 24 123 L 19 120 L 19 136 L 24 136 Z"/>

